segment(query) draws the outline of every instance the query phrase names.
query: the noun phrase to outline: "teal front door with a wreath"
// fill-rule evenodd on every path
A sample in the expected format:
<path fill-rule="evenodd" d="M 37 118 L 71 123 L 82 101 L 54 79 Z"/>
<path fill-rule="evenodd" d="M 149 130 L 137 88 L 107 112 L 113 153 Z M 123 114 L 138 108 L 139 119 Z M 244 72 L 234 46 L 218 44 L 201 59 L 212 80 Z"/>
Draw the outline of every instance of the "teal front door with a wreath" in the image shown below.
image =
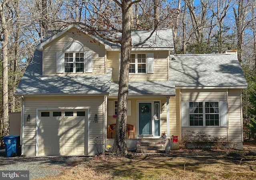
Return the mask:
<path fill-rule="evenodd" d="M 152 135 L 151 103 L 139 103 L 139 133 L 140 135 Z"/>

